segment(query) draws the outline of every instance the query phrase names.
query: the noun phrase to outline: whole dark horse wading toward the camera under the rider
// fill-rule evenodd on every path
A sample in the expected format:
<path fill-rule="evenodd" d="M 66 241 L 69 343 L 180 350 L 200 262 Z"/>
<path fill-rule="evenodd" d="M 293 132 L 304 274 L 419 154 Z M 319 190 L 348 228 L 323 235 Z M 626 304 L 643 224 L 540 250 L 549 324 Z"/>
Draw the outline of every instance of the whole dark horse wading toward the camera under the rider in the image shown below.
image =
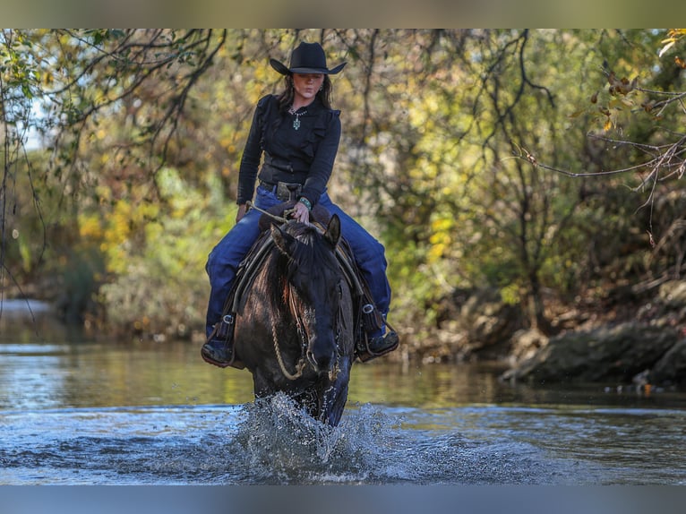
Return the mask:
<path fill-rule="evenodd" d="M 326 230 L 272 225 L 273 245 L 236 316 L 236 358 L 255 398 L 287 393 L 314 418 L 339 424 L 355 359 L 351 288 L 337 257 L 340 220 Z"/>

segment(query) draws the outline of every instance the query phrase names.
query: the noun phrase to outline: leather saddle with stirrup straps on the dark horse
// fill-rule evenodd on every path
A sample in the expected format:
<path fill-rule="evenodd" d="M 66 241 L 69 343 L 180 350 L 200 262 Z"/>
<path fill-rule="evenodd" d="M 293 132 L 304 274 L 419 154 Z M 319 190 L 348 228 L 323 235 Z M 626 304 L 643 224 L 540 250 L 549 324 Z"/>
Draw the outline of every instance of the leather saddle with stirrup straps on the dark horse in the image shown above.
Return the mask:
<path fill-rule="evenodd" d="M 254 278 L 262 269 L 262 263 L 274 246 L 270 227 L 271 225 L 279 225 L 281 223 L 280 219 L 284 218 L 284 213 L 287 213 L 288 210 L 292 209 L 295 203 L 295 201 L 280 203 L 270 210 L 267 210 L 265 214 L 262 214 L 262 217 L 259 220 L 260 236 L 238 266 L 236 278 L 234 278 L 233 285 L 227 296 L 227 301 L 224 304 L 222 321 L 217 324 L 217 328 L 215 329 L 221 334 L 222 338 L 225 338 L 227 344 L 233 343 L 236 315 L 240 315 L 244 312 L 245 301 L 247 299 L 246 293 L 250 290 Z M 310 220 L 313 224 L 326 227 L 329 225 L 330 213 L 323 207 L 315 205 L 310 212 Z M 339 245 L 336 247 L 336 256 L 353 296 L 356 355 L 363 362 L 373 357 L 381 356 L 382 354 L 374 353 L 369 348 L 367 334 L 373 332 L 373 330 L 380 330 L 382 328 L 382 314 L 373 306 L 369 287 L 357 267 L 352 249 L 342 237 L 339 241 Z M 220 326 L 221 328 L 219 328 Z M 244 364 L 236 358 L 236 351 L 233 352 L 232 362 L 228 365 L 238 369 L 244 368 Z"/>

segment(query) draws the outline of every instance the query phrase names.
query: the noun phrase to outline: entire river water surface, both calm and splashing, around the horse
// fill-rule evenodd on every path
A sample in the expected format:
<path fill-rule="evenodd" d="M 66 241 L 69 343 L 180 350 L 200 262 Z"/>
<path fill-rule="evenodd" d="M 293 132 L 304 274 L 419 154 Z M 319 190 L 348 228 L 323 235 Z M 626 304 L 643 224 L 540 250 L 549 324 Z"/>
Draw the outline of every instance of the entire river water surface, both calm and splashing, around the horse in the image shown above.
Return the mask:
<path fill-rule="evenodd" d="M 686 484 L 682 392 L 380 359 L 330 428 L 197 345 L 53 339 L 0 338 L 0 484 Z"/>

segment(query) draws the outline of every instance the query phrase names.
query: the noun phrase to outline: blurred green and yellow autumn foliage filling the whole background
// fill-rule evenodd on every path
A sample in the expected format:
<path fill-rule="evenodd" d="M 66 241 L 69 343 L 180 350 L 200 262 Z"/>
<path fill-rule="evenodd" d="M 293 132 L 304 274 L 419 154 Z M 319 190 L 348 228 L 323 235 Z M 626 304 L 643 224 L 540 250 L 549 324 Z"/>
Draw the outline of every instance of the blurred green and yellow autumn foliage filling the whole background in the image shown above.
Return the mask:
<path fill-rule="evenodd" d="M 386 246 L 393 320 L 430 330 L 455 291 L 497 287 L 545 326 L 550 298 L 679 272 L 681 30 L 2 35 L 3 265 L 59 277 L 43 289 L 91 323 L 202 329 L 254 103 L 283 83 L 268 58 L 301 39 L 348 62 L 330 193 Z"/>

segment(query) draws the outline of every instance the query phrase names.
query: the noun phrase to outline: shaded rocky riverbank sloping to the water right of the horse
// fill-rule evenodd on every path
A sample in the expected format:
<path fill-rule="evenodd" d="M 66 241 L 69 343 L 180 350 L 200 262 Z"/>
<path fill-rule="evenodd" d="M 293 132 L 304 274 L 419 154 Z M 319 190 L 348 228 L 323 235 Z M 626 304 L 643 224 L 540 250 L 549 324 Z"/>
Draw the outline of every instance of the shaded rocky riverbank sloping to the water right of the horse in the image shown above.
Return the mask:
<path fill-rule="evenodd" d="M 621 293 L 621 294 L 620 294 Z M 686 385 L 686 283 L 622 287 L 596 303 L 559 305 L 552 334 L 527 328 L 517 305 L 495 290 L 464 295 L 421 345 L 411 338 L 393 358 L 423 363 L 495 360 L 502 379 Z"/>

